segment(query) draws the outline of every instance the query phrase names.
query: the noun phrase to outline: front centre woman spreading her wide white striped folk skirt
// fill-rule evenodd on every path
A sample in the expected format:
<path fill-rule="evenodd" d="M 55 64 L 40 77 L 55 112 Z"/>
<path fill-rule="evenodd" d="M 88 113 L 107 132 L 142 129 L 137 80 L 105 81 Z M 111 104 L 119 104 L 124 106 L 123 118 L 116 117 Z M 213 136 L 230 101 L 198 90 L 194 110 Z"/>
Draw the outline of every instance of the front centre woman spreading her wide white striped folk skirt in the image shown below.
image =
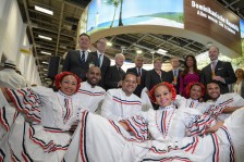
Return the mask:
<path fill-rule="evenodd" d="M 159 104 L 130 119 L 114 122 L 87 111 L 74 133 L 64 161 L 241 161 L 244 157 L 244 109 L 227 122 L 211 122 L 207 116 L 194 121 L 200 113 L 195 109 L 175 109 L 175 90 L 162 83 L 151 90 Z M 197 137 L 185 137 L 194 125 Z M 192 127 L 193 128 L 193 127 Z M 241 130 L 239 130 L 241 128 Z M 130 133 L 129 133 L 130 132 Z"/>

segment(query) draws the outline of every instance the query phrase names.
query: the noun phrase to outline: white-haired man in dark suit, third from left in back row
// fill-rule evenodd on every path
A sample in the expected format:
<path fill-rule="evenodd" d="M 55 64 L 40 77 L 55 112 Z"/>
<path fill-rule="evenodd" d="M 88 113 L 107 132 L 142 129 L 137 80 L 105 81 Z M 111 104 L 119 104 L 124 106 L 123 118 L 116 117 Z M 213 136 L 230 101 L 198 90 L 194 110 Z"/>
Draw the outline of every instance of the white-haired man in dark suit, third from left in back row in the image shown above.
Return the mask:
<path fill-rule="evenodd" d="M 114 58 L 115 65 L 110 66 L 105 78 L 105 84 L 108 89 L 121 88 L 122 78 L 125 75 L 125 72 L 121 68 L 124 63 L 124 54 L 118 53 Z"/>

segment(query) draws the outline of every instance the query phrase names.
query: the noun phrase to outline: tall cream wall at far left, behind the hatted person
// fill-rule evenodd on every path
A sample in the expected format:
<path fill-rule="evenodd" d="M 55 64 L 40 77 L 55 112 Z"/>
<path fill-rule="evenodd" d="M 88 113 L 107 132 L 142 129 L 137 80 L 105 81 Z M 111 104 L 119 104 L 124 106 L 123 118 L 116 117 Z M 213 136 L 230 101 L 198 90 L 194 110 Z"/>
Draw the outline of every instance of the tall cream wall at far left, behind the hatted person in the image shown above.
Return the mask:
<path fill-rule="evenodd" d="M 29 85 L 41 85 L 39 73 L 33 54 L 26 55 L 20 52 L 25 45 L 29 47 L 26 37 L 26 25 L 23 23 L 16 0 L 0 1 L 4 5 L 0 17 L 0 58 L 5 53 L 7 59 L 16 62 L 23 76 Z M 2 9 L 2 8 L 1 8 Z"/>

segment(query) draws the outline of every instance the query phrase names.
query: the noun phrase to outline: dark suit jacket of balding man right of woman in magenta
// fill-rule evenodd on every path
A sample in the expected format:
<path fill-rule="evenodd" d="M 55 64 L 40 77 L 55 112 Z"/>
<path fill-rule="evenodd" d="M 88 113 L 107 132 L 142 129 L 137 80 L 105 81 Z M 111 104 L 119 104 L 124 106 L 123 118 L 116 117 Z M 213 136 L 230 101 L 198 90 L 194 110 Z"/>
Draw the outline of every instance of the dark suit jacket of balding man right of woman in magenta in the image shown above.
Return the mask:
<path fill-rule="evenodd" d="M 232 68 L 230 62 L 218 61 L 216 68 L 215 68 L 216 76 L 221 76 L 224 83 L 219 82 L 220 92 L 227 94 L 229 92 L 228 85 L 233 84 L 236 82 L 236 76 Z M 211 64 L 208 64 L 202 70 L 200 73 L 200 82 L 206 86 L 211 79 Z"/>

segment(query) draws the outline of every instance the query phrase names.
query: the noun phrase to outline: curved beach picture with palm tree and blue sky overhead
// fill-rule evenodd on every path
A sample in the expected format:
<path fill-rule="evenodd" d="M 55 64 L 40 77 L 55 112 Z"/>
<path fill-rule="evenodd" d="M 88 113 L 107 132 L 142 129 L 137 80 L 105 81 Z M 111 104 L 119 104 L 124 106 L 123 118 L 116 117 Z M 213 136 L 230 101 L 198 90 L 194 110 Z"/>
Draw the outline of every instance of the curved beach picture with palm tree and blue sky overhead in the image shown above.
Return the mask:
<path fill-rule="evenodd" d="M 87 33 L 129 26 L 160 25 L 184 28 L 183 0 L 93 0 L 88 7 Z"/>

